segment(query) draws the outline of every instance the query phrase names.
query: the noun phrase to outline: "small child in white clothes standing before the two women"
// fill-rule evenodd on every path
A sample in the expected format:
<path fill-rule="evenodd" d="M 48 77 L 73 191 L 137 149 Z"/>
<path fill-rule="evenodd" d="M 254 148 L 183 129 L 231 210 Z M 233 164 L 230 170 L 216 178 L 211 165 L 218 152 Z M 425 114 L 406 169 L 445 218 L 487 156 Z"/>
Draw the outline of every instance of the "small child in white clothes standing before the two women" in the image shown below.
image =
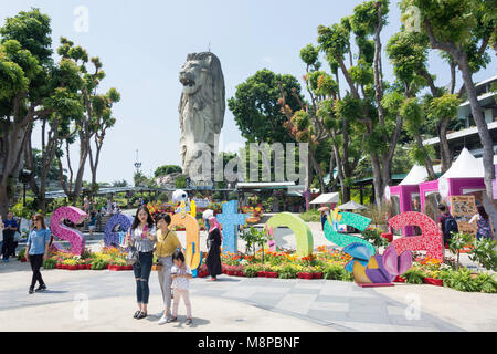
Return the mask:
<path fill-rule="evenodd" d="M 187 306 L 187 325 L 192 324 L 191 319 L 191 303 L 190 303 L 190 284 L 189 280 L 192 278 L 191 269 L 184 263 L 184 256 L 181 251 L 176 251 L 172 254 L 175 266 L 171 268 L 172 291 L 175 302 L 172 304 L 171 322 L 178 320 L 178 306 L 181 298 Z"/>

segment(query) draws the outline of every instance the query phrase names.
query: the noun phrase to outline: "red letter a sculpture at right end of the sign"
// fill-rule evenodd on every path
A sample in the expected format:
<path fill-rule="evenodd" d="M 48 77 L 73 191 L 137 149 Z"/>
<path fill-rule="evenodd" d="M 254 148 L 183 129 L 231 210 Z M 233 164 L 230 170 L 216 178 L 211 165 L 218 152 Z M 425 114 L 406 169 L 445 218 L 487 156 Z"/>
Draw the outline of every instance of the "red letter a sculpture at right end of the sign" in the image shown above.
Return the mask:
<path fill-rule="evenodd" d="M 408 236 L 390 243 L 389 248 L 393 248 L 396 256 L 401 256 L 404 251 L 426 251 L 426 257 L 443 261 L 442 231 L 438 229 L 435 221 L 427 216 L 421 212 L 406 211 L 391 218 L 389 225 L 395 229 L 404 226 L 417 226 L 422 232 L 421 236 Z M 387 251 L 389 250 L 385 250 L 385 254 Z M 389 259 L 395 253 L 390 250 L 388 253 Z M 388 266 L 385 263 L 389 271 L 393 271 L 393 268 L 390 268 L 390 266 L 394 264 L 395 261 L 388 262 Z"/>

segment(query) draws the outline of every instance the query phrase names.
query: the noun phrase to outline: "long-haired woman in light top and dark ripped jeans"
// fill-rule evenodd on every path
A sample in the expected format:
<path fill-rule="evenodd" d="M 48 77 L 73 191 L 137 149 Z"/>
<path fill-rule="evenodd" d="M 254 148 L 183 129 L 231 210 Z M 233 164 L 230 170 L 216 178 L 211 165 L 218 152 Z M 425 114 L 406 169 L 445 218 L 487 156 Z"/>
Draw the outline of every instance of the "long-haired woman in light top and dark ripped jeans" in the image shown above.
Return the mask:
<path fill-rule="evenodd" d="M 139 252 L 138 262 L 133 264 L 138 303 L 138 311 L 135 312 L 134 319 L 141 320 L 147 316 L 148 298 L 150 295 L 148 279 L 154 261 L 154 244 L 157 240 L 154 219 L 147 207 L 139 207 L 136 211 L 127 239 L 128 243 Z"/>

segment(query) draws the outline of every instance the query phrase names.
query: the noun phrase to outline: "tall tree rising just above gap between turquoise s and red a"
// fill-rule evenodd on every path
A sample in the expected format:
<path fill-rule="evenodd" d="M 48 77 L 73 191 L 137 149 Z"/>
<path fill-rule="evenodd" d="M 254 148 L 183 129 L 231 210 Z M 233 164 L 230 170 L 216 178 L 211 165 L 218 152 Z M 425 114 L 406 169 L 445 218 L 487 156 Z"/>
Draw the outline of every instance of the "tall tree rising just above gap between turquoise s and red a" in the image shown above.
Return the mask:
<path fill-rule="evenodd" d="M 381 31 L 387 22 L 388 1 L 367 1 L 353 9 L 353 14 L 331 27 L 318 27 L 318 42 L 327 58 L 338 63 L 349 88 L 348 107 L 364 134 L 371 159 L 377 204 L 391 183 L 392 158 L 402 131 L 403 118 L 394 121 L 382 105 L 384 83 L 381 62 Z M 353 32 L 358 60 L 351 62 L 350 35 Z M 353 64 L 353 63 L 352 63 Z"/>

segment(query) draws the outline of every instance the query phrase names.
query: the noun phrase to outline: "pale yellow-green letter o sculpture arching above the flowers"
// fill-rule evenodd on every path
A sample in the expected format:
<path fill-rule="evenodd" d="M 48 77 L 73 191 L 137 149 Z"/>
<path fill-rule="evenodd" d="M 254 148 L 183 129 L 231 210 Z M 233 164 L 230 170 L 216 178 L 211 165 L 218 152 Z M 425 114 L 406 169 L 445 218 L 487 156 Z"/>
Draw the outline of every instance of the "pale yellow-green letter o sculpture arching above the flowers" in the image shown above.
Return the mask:
<path fill-rule="evenodd" d="M 279 212 L 272 216 L 265 227 L 277 228 L 281 226 L 286 226 L 294 232 L 297 240 L 297 256 L 307 257 L 313 253 L 313 232 L 310 232 L 309 227 L 303 219 L 290 212 Z"/>

